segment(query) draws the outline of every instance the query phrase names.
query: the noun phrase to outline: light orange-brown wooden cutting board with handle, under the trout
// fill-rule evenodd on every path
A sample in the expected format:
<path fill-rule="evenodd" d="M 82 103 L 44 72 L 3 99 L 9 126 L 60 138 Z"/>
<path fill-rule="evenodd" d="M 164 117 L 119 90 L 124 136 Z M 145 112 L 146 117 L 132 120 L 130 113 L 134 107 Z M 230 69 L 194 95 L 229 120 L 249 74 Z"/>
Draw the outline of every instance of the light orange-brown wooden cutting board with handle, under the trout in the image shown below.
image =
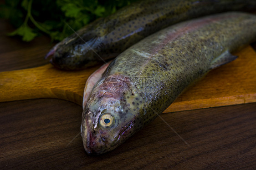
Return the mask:
<path fill-rule="evenodd" d="M 247 46 L 234 55 L 238 59 L 210 71 L 164 112 L 256 102 L 256 52 Z M 63 71 L 48 64 L 0 72 L 0 102 L 57 98 L 82 105 L 85 82 L 97 68 Z"/>

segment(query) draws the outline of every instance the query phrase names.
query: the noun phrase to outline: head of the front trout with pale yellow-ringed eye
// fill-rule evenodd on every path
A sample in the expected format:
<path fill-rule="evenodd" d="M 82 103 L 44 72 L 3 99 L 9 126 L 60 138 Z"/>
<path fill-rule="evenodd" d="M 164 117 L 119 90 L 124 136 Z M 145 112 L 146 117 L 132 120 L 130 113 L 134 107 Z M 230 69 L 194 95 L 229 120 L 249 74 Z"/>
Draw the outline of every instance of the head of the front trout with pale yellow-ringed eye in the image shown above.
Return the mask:
<path fill-rule="evenodd" d="M 116 83 L 120 85 L 120 81 L 116 80 Z M 106 84 L 109 86 L 111 83 L 94 86 L 83 110 L 81 135 L 88 154 L 113 150 L 143 125 L 139 122 L 143 110 L 142 96 L 130 90 L 123 91 L 123 86 L 116 91 L 104 89 Z M 135 100 L 139 105 L 135 104 Z"/>

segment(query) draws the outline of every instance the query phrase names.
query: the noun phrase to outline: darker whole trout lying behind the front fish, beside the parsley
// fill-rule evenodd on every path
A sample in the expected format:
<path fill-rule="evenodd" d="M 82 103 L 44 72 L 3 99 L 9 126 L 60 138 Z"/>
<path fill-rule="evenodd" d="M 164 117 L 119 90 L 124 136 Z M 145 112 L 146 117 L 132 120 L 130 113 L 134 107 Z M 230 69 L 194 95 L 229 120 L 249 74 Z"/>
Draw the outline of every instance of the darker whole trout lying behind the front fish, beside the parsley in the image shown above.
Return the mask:
<path fill-rule="evenodd" d="M 46 55 L 64 70 L 80 70 L 116 57 L 144 37 L 183 20 L 230 10 L 256 9 L 256 0 L 143 0 L 98 19 Z M 71 25 L 72 26 L 72 25 Z"/>

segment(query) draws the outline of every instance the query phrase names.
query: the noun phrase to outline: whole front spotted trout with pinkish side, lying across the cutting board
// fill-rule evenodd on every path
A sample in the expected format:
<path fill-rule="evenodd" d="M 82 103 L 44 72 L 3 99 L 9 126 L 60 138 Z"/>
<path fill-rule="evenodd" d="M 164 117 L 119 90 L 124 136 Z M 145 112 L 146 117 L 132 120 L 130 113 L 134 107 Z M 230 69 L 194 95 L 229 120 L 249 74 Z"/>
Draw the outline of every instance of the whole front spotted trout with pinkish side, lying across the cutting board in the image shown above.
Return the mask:
<path fill-rule="evenodd" d="M 230 52 L 255 40 L 256 15 L 231 12 L 170 26 L 125 50 L 89 79 L 95 85 L 85 90 L 91 91 L 81 125 L 86 152 L 113 150 L 189 85 L 235 60 Z"/>

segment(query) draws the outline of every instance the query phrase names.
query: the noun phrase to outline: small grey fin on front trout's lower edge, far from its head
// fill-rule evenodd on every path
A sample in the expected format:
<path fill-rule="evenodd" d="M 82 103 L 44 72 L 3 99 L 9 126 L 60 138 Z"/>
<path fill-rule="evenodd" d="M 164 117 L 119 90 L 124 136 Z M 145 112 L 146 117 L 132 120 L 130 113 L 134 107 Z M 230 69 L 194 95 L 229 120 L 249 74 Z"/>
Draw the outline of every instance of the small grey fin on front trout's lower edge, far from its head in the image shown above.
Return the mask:
<path fill-rule="evenodd" d="M 210 63 L 210 70 L 215 69 L 221 65 L 225 65 L 233 60 L 236 60 L 238 56 L 231 55 L 229 50 L 226 50 L 224 53 L 222 53 L 220 56 L 216 57 L 214 60 Z"/>

